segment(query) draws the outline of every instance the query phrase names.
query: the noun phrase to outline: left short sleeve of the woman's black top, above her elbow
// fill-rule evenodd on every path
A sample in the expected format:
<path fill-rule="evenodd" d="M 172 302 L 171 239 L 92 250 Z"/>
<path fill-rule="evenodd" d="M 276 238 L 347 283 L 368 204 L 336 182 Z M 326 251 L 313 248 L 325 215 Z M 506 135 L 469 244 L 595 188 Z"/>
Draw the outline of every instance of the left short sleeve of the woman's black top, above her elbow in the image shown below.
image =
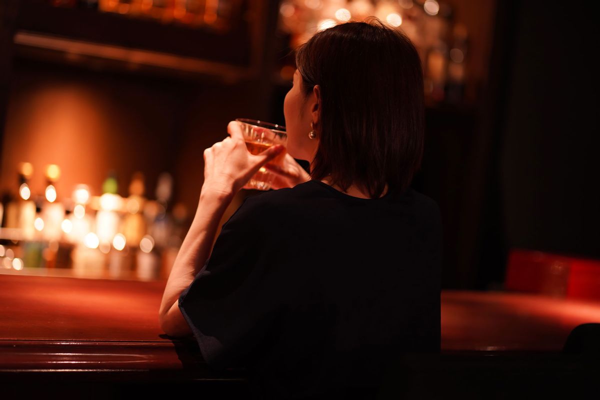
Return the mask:
<path fill-rule="evenodd" d="M 242 366 L 268 335 L 281 301 L 274 239 L 261 195 L 248 197 L 223 225 L 212 254 L 179 297 L 206 362 Z"/>

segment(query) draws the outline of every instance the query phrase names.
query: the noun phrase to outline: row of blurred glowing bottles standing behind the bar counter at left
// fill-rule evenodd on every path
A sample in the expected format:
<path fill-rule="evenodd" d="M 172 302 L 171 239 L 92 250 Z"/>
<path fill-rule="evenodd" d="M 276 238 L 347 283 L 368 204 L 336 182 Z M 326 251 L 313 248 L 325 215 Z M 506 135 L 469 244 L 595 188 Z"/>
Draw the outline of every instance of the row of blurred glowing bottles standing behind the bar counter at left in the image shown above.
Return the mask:
<path fill-rule="evenodd" d="M 44 194 L 34 194 L 33 173 L 32 164 L 21 163 L 18 191 L 0 204 L 0 272 L 144 281 L 169 276 L 187 218 L 183 204 L 170 204 L 169 173 L 158 177 L 155 199 L 144 197 L 139 172 L 128 197 L 117 194 L 114 173 L 100 196 L 83 184 L 57 193 L 61 170 L 55 164 L 46 167 Z"/>

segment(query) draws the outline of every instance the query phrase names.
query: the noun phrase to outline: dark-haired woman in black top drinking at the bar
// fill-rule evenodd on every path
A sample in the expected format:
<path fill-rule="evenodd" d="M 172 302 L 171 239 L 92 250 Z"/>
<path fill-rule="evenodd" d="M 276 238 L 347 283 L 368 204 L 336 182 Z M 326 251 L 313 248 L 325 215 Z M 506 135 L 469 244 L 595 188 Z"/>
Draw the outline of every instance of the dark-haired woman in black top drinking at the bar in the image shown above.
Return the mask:
<path fill-rule="evenodd" d="M 439 207 L 409 188 L 423 148 L 421 62 L 376 20 L 317 33 L 296 66 L 281 188 L 246 199 L 211 254 L 233 195 L 283 150 L 248 154 L 230 123 L 204 153 L 161 326 L 193 333 L 212 366 L 246 366 L 263 398 L 374 395 L 398 356 L 440 347 Z M 310 160 L 310 175 L 294 158 Z"/>

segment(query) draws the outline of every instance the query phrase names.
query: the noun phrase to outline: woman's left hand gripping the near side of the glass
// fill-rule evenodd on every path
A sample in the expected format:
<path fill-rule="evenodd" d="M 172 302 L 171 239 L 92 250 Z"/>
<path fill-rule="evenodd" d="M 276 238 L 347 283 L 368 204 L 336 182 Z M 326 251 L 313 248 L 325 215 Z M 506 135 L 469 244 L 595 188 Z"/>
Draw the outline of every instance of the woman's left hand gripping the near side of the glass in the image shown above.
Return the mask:
<path fill-rule="evenodd" d="M 204 151 L 202 193 L 234 196 L 260 167 L 285 150 L 284 146 L 276 145 L 253 155 L 248 152 L 238 122 L 229 122 L 227 132 L 230 137 Z"/>

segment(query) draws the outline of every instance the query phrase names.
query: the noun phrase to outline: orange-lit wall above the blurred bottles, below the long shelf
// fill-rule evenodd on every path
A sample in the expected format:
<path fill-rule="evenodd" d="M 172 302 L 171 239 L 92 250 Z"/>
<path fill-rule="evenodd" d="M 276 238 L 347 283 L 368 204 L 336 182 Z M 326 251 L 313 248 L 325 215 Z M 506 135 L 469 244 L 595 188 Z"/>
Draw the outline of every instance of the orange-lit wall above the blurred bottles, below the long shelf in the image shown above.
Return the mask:
<path fill-rule="evenodd" d="M 175 179 L 173 201 L 193 215 L 203 182 L 203 151 L 227 137 L 227 122 L 265 118 L 256 82 L 223 85 L 140 74 L 91 71 L 19 59 L 13 66 L 5 125 L 0 191 L 17 194 L 17 167 L 34 166 L 30 187 L 43 194 L 47 164 L 61 167 L 59 200 L 77 184 L 94 195 L 114 170 L 128 196 L 133 173 L 143 172 L 146 196 L 157 177 Z M 233 201 L 226 218 L 239 206 Z"/>

